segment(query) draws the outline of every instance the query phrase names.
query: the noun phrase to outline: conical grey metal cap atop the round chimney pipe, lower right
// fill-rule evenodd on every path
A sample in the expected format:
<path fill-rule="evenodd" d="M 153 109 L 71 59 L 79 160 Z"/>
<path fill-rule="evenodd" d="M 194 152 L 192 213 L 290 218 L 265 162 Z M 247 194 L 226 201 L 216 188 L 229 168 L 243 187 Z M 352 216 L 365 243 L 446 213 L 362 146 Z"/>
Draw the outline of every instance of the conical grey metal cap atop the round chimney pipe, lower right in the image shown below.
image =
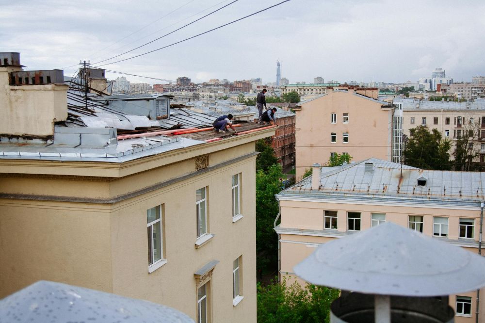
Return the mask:
<path fill-rule="evenodd" d="M 294 272 L 345 291 L 442 296 L 485 286 L 483 268 L 483 257 L 387 222 L 323 243 Z"/>

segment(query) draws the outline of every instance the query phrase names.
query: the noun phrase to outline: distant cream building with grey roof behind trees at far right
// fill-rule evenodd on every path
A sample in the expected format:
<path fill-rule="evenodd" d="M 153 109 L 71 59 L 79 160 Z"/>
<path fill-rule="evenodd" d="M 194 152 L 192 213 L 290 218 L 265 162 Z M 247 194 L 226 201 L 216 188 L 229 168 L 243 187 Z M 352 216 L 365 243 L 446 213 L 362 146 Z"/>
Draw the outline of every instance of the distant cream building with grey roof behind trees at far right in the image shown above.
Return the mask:
<path fill-rule="evenodd" d="M 421 125 L 438 129 L 442 138 L 452 141 L 450 157 L 453 159 L 454 143 L 471 122 L 479 128 L 478 138 L 472 143 L 472 149 L 479 154 L 476 161 L 485 162 L 485 101 L 435 102 L 396 97 L 393 103 L 396 111 L 393 118 L 392 161 L 401 161 L 402 134 L 409 136 L 410 129 Z"/>

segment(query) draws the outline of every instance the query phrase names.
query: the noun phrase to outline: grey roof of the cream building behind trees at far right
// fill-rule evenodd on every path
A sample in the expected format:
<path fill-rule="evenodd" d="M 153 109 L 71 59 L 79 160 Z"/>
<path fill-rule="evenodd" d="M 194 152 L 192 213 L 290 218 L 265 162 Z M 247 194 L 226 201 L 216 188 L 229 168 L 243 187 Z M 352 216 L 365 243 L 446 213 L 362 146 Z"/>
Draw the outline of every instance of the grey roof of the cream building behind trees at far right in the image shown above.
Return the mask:
<path fill-rule="evenodd" d="M 402 103 L 403 110 L 472 110 L 485 111 L 485 100 L 471 102 L 422 101 L 413 98 L 396 97 L 393 103 Z M 419 107 L 417 107 L 419 105 Z"/>

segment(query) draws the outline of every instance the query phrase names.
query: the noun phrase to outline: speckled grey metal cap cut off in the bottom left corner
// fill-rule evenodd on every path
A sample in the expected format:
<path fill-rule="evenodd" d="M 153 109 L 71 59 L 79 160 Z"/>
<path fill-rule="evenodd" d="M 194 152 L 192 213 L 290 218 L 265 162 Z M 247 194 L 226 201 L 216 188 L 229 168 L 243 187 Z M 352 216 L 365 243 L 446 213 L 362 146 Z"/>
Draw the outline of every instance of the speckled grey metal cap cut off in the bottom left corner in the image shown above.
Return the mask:
<path fill-rule="evenodd" d="M 51 281 L 38 281 L 0 300 L 0 321 L 194 322 L 171 307 Z"/>

